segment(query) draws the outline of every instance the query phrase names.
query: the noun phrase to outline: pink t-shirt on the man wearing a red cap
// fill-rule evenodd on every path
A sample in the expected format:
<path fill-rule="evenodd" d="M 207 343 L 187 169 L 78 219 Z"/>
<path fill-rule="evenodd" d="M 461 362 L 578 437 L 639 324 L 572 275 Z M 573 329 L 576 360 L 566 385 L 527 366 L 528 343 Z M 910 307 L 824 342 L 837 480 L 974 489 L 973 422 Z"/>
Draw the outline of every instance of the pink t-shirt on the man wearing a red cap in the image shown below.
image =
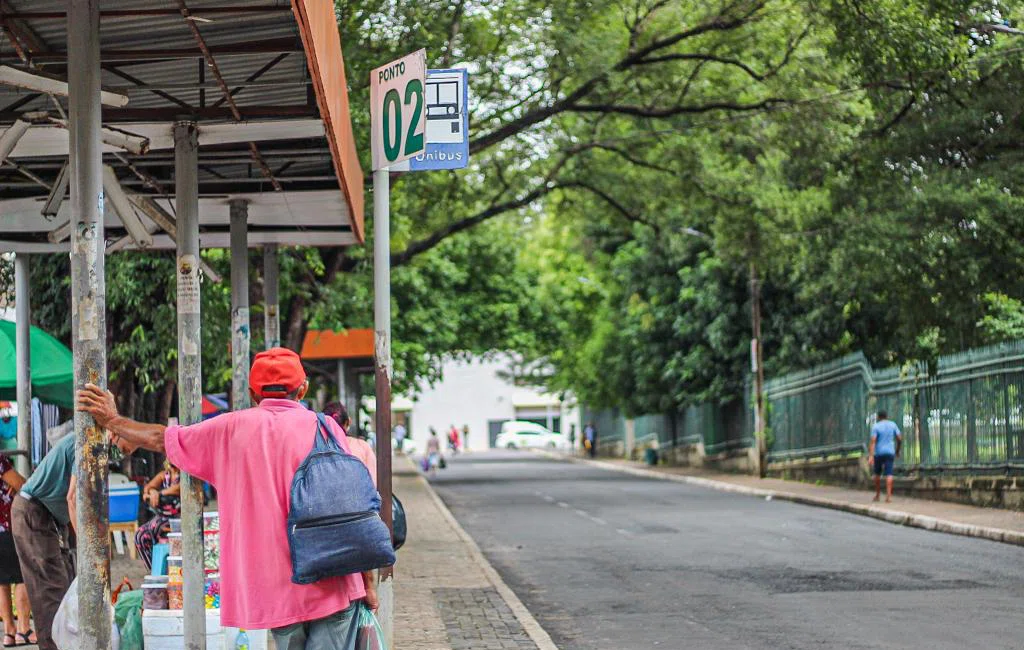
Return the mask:
<path fill-rule="evenodd" d="M 353 444 L 337 423 L 327 422 L 342 447 L 370 469 L 376 484 L 370 445 Z M 254 408 L 167 428 L 170 462 L 217 488 L 220 618 L 225 626 L 268 630 L 315 620 L 367 595 L 358 574 L 312 584 L 292 582 L 289 494 L 315 431 L 316 415 L 288 399 L 264 399 Z"/>

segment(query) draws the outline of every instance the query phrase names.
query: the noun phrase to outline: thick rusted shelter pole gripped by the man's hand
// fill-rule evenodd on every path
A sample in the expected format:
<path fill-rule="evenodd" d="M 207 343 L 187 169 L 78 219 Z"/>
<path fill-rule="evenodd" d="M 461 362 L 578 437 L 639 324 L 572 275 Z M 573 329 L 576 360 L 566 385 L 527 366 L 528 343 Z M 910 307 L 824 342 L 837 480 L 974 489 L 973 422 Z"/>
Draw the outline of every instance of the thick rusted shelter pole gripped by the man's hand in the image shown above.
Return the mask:
<path fill-rule="evenodd" d="M 71 300 L 75 387 L 106 386 L 99 0 L 69 0 Z M 78 617 L 83 648 L 111 647 L 111 536 L 106 433 L 75 410 Z"/>

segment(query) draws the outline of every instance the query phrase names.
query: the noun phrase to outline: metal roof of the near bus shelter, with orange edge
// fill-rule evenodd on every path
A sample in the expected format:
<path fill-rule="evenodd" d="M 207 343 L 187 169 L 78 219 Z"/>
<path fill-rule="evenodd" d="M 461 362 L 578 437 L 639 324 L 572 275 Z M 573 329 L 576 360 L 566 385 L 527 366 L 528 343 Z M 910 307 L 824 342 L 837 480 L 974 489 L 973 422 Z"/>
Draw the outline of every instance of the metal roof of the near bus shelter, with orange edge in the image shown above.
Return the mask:
<path fill-rule="evenodd" d="M 103 162 L 125 191 L 155 201 L 173 217 L 173 124 L 195 119 L 202 246 L 226 245 L 228 201 L 236 198 L 250 203 L 253 246 L 362 241 L 362 172 L 334 3 L 99 4 L 101 84 L 127 98 L 124 105 L 103 106 Z M 0 76 L 9 67 L 67 79 L 67 5 L 0 0 Z M 68 159 L 68 132 L 59 124 L 67 106 L 59 93 L 0 84 L 0 129 L 32 123 L 0 167 L 0 251 L 67 248 L 68 237 L 54 233 L 70 218 L 67 203 L 56 214 L 42 214 Z M 110 203 L 105 212 L 110 245 L 126 230 Z M 157 232 L 154 247 L 174 243 Z"/>

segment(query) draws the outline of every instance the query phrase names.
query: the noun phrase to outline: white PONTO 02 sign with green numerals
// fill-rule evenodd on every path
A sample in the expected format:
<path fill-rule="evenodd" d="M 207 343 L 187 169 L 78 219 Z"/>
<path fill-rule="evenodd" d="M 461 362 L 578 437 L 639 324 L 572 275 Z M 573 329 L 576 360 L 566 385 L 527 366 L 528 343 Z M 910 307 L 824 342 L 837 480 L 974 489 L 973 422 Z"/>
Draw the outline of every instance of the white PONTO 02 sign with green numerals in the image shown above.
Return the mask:
<path fill-rule="evenodd" d="M 427 51 L 421 49 L 370 73 L 370 149 L 374 170 L 423 151 Z"/>

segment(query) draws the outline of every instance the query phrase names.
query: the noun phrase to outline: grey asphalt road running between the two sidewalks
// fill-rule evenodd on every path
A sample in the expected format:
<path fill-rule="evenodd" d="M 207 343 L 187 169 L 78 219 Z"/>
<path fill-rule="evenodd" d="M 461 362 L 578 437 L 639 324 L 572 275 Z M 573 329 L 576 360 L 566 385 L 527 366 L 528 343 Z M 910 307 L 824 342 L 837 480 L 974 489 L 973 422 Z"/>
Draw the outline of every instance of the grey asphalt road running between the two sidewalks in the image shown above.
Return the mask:
<path fill-rule="evenodd" d="M 528 452 L 433 484 L 562 650 L 1024 648 L 1024 548 Z"/>

